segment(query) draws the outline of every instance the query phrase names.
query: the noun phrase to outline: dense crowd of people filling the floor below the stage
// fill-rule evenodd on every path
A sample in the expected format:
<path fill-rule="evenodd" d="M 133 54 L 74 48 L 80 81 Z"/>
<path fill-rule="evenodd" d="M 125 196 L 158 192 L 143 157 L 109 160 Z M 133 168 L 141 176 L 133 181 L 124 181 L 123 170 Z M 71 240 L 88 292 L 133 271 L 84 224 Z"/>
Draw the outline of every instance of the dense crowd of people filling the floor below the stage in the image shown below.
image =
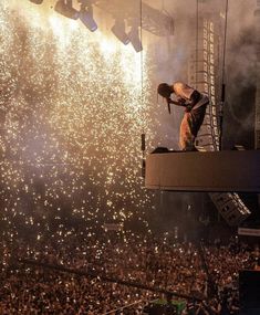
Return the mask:
<path fill-rule="evenodd" d="M 256 264 L 253 249 L 238 242 L 198 246 L 170 233 L 3 237 L 0 250 L 0 314 L 6 315 L 144 314 L 145 305 L 162 297 L 147 290 L 150 287 L 173 292 L 171 298 L 185 301 L 183 314 L 238 314 L 239 271 Z M 221 313 L 223 308 L 226 313 Z"/>

